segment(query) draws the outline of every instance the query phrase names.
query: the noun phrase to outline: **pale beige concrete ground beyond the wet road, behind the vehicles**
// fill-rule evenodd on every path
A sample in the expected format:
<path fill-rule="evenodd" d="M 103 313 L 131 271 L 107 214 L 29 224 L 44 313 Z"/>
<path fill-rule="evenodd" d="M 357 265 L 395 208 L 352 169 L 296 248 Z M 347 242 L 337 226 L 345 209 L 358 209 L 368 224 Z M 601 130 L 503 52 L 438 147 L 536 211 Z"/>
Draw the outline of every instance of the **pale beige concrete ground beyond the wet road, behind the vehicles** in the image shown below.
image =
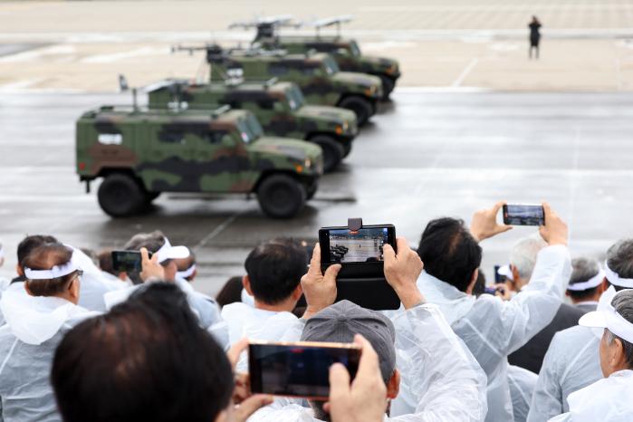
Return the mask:
<path fill-rule="evenodd" d="M 401 86 L 448 90 L 631 91 L 633 4 L 628 0 L 323 0 L 320 17 L 353 14 L 343 34 L 365 53 L 398 58 Z M 247 44 L 228 24 L 262 14 L 312 21 L 310 2 L 0 1 L 0 92 L 116 91 L 195 77 L 202 55 L 177 43 Z M 543 24 L 541 60 L 527 58 L 527 24 Z M 284 34 L 313 34 L 304 27 Z M 327 31 L 326 31 L 327 33 Z M 4 44 L 4 47 L 3 47 Z M 23 45 L 15 53 L 15 44 Z M 13 51 L 13 53 L 11 53 Z"/>

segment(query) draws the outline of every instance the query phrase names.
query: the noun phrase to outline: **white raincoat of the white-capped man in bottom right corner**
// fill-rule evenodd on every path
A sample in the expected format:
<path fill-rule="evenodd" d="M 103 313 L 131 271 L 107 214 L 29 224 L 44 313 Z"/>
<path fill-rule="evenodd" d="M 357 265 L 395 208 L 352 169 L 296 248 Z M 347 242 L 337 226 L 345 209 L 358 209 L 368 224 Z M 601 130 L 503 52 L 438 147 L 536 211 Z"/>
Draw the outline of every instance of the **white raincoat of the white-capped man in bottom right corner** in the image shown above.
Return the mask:
<path fill-rule="evenodd" d="M 570 411 L 551 422 L 630 422 L 633 420 L 633 370 L 612 373 L 571 393 Z"/>

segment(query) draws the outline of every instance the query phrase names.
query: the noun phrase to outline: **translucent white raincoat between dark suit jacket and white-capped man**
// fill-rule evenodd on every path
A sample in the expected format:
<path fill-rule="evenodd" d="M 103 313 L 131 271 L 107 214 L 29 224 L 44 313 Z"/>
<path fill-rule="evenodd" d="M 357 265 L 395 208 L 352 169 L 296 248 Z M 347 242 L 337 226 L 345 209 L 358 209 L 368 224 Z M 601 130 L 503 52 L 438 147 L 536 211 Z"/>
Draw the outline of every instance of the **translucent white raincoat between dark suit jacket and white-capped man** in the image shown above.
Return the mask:
<path fill-rule="evenodd" d="M 569 412 L 569 395 L 602 379 L 599 345 L 591 329 L 580 325 L 554 335 L 534 388 L 529 422 Z"/>

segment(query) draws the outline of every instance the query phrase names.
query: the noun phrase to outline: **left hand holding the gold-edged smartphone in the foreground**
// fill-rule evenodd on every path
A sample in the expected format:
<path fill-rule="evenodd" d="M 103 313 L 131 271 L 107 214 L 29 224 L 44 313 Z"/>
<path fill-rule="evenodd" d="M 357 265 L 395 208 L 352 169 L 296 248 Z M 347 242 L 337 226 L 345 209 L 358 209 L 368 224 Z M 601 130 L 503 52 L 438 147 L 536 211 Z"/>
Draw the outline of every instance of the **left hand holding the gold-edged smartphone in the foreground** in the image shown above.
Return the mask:
<path fill-rule="evenodd" d="M 239 360 L 240 353 L 248 347 L 248 340 L 237 341 L 230 350 L 226 352 L 231 368 L 235 371 L 235 365 Z M 252 394 L 250 381 L 247 374 L 235 374 L 235 389 L 233 391 L 233 402 L 235 403 L 235 422 L 245 422 L 259 408 L 273 403 L 273 396 L 266 394 Z"/>

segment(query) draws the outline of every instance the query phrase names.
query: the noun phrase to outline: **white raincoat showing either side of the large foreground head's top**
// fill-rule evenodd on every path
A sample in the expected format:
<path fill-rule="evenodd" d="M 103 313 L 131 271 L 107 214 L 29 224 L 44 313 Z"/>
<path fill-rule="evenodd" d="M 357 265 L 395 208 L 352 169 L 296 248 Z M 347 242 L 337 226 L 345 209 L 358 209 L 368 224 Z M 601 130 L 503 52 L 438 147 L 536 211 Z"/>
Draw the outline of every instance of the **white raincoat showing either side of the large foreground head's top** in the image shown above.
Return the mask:
<path fill-rule="evenodd" d="M 196 292 L 191 286 L 191 283 L 185 280 L 176 279 L 174 283 L 187 295 L 189 307 L 200 321 L 200 326 L 211 333 L 221 347 L 228 350 L 229 343 L 226 323 L 222 319 L 222 316 L 220 316 L 220 307 L 217 305 L 215 299 L 206 296 L 206 294 Z M 134 293 L 141 285 L 142 284 L 136 284 L 117 290 L 116 292 L 106 293 L 104 296 L 106 309 L 110 310 L 114 305 L 127 301 L 129 295 Z"/>

